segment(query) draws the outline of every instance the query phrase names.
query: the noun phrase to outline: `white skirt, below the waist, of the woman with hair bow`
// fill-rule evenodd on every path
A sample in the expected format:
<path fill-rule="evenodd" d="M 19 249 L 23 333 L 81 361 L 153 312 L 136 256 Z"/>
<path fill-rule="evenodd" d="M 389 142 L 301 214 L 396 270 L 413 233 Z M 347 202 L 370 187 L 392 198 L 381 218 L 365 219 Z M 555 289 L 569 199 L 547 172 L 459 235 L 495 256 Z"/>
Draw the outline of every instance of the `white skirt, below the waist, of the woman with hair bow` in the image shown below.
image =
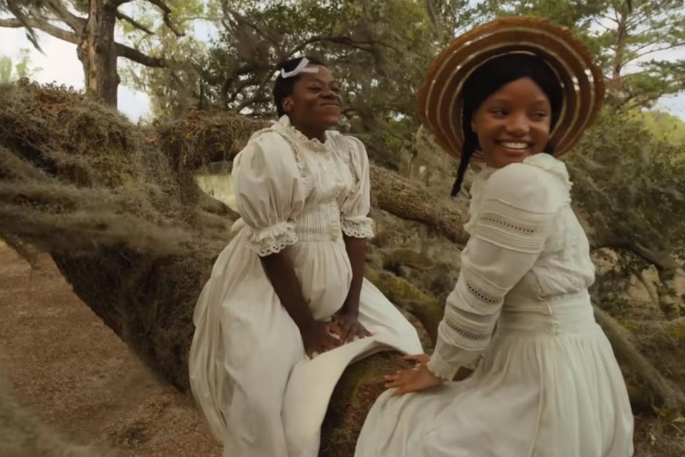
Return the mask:
<path fill-rule="evenodd" d="M 359 319 L 372 337 L 309 359 L 246 235 L 238 232 L 219 255 L 198 299 L 191 390 L 225 457 L 313 457 L 345 367 L 383 349 L 419 354 L 422 346 L 414 327 L 365 280 Z M 314 317 L 328 319 L 352 279 L 342 237 L 287 249 Z"/>

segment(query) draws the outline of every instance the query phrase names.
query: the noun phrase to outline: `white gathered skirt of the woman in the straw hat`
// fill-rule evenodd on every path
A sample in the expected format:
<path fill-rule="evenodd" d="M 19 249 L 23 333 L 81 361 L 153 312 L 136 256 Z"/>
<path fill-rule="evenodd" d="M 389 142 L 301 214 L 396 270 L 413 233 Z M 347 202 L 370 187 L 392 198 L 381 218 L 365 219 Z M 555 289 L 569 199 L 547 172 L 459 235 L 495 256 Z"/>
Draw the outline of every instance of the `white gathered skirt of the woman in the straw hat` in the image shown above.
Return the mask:
<path fill-rule="evenodd" d="M 391 398 L 365 421 L 355 457 L 629 457 L 633 416 L 592 307 L 503 313 L 461 382 Z"/>

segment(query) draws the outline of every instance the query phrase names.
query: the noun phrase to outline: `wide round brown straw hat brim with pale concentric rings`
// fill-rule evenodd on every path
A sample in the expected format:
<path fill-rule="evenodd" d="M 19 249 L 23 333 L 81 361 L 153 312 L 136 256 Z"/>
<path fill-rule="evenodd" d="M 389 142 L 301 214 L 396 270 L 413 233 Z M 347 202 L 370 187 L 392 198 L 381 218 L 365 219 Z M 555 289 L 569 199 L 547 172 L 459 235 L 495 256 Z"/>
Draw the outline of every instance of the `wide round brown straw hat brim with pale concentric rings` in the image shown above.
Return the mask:
<path fill-rule="evenodd" d="M 569 29 L 544 19 L 495 19 L 456 38 L 429 66 L 419 91 L 421 123 L 450 155 L 464 144 L 462 88 L 483 63 L 507 53 L 533 53 L 552 67 L 564 91 L 562 110 L 549 135 L 554 155 L 566 153 L 594 123 L 604 100 L 604 78 L 592 53 Z M 476 153 L 474 160 L 483 160 Z"/>

